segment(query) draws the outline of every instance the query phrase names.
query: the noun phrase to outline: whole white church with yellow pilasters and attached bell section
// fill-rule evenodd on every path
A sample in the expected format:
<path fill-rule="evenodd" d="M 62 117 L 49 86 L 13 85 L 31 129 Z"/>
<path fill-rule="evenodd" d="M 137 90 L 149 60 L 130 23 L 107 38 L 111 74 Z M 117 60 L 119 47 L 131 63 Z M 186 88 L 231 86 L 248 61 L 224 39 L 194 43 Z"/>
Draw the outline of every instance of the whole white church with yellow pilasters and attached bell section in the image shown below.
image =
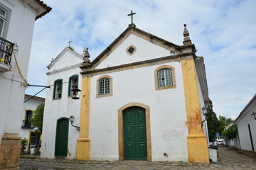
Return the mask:
<path fill-rule="evenodd" d="M 183 37 L 131 23 L 92 62 L 65 47 L 48 65 L 41 157 L 208 164 L 205 65 Z"/>

